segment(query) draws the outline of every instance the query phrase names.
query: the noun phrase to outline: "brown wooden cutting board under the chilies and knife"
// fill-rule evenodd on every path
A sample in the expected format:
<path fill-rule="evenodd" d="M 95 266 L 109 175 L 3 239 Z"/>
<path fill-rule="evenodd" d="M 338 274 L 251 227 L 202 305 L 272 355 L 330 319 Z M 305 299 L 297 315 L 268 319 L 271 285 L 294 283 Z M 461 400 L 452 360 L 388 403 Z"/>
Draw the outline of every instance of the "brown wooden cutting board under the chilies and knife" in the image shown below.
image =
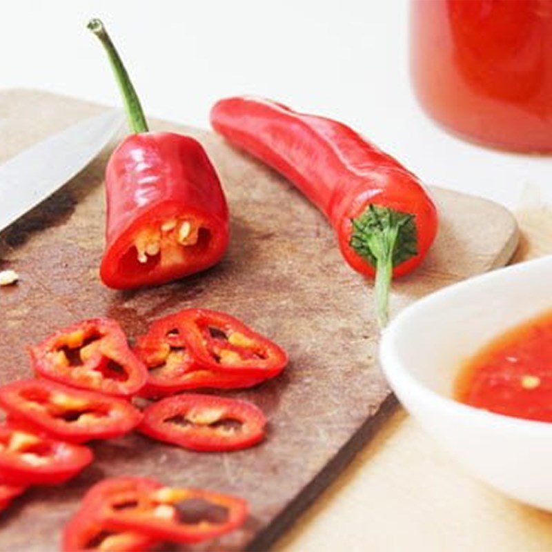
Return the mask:
<path fill-rule="evenodd" d="M 0 92 L 0 161 L 103 109 L 45 92 Z M 58 550 L 61 528 L 79 498 L 90 484 L 113 475 L 241 495 L 251 508 L 245 526 L 199 548 L 266 549 L 396 404 L 377 367 L 371 284 L 342 261 L 322 215 L 275 172 L 212 133 L 159 121 L 152 128 L 194 135 L 215 162 L 232 213 L 224 261 L 159 288 L 121 293 L 102 286 L 102 179 L 108 159 L 103 152 L 0 235 L 0 268 L 21 276 L 17 286 L 0 289 L 0 382 L 28 377 L 26 346 L 85 317 L 114 317 L 135 336 L 152 319 L 180 308 L 220 309 L 273 337 L 290 354 L 277 380 L 224 393 L 264 410 L 268 439 L 224 454 L 188 452 L 140 435 L 99 442 L 93 446 L 95 463 L 75 480 L 57 489 L 30 489 L 1 515 L 2 551 Z M 395 284 L 393 311 L 505 264 L 517 244 L 515 221 L 504 208 L 439 188 L 433 193 L 440 235 L 420 270 Z"/>

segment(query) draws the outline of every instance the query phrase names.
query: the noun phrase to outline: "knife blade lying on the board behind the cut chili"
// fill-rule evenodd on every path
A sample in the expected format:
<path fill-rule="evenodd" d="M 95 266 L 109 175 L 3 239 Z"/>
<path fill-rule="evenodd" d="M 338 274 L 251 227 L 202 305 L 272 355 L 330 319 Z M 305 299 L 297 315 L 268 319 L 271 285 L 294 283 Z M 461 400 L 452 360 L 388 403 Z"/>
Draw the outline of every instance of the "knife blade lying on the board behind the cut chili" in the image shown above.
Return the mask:
<path fill-rule="evenodd" d="M 90 117 L 0 166 L 0 231 L 66 184 L 121 128 L 121 112 Z"/>

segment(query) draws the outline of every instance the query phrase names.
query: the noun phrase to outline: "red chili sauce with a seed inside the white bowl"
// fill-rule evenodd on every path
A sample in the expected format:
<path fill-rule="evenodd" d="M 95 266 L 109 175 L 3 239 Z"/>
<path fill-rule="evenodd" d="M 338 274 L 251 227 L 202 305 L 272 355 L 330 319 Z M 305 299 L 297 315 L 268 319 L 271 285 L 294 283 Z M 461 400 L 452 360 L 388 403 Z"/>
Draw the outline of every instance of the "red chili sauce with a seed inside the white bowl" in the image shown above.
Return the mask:
<path fill-rule="evenodd" d="M 552 422 L 552 311 L 477 353 L 460 373 L 455 397 L 498 414 Z"/>

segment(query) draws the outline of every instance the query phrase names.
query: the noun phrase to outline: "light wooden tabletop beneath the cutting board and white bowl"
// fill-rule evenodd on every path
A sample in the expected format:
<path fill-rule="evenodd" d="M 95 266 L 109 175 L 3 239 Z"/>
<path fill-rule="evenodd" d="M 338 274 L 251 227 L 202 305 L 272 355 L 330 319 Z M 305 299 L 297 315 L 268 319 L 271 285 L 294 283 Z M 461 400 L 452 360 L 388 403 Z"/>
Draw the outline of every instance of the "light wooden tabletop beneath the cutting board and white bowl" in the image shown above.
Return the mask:
<path fill-rule="evenodd" d="M 551 253 L 552 212 L 533 188 L 517 218 L 524 239 L 515 260 Z M 552 514 L 464 473 L 401 410 L 275 550 L 552 551 Z"/>

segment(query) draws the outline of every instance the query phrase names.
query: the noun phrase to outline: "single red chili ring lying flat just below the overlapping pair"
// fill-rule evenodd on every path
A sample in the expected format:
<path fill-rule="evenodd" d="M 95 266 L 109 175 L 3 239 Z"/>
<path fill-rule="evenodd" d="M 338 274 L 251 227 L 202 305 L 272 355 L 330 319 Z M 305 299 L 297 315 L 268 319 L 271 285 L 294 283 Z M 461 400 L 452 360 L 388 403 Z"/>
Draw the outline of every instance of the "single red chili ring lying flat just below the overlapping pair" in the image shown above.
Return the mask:
<path fill-rule="evenodd" d="M 265 425 L 253 403 L 190 393 L 148 406 L 138 430 L 184 449 L 236 451 L 261 441 Z"/>

